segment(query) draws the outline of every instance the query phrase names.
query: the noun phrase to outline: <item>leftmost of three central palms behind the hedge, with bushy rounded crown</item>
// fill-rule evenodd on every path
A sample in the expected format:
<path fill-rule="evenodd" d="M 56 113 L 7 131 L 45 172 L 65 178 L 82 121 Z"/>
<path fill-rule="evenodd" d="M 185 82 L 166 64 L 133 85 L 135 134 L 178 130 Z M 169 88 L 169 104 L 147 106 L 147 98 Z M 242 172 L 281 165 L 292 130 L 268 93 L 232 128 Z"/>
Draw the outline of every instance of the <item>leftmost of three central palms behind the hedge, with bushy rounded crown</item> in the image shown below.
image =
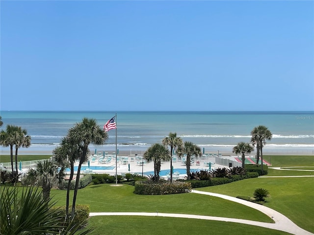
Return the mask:
<path fill-rule="evenodd" d="M 171 158 L 169 149 L 160 143 L 150 146 L 144 153 L 144 159 L 150 163 L 154 162 L 154 180 L 159 181 L 161 161 L 169 161 Z"/>

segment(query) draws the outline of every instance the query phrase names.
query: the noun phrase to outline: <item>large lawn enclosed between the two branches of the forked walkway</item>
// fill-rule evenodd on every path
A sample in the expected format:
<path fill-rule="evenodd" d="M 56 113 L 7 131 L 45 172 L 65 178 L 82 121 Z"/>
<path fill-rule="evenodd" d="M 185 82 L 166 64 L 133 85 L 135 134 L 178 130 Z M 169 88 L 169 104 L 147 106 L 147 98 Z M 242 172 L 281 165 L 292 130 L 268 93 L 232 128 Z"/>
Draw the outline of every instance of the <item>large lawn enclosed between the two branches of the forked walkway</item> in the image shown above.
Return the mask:
<path fill-rule="evenodd" d="M 195 193 L 137 195 L 134 187 L 109 184 L 79 189 L 77 204 L 88 204 L 90 212 L 161 212 L 186 213 L 272 222 L 260 211 L 221 198 Z M 71 191 L 71 197 L 73 191 Z M 66 190 L 52 190 L 57 205 L 65 205 Z M 71 204 L 72 202 L 70 202 Z"/>

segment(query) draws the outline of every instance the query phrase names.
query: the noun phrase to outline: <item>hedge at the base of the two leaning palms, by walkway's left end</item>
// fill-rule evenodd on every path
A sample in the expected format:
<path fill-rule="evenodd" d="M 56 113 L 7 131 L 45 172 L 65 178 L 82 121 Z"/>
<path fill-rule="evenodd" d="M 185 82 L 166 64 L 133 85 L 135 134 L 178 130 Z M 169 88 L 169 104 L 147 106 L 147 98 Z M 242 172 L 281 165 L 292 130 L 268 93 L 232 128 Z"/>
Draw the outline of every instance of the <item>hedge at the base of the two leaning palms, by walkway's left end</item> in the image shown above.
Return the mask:
<path fill-rule="evenodd" d="M 71 213 L 71 209 L 72 209 L 72 205 L 69 207 L 70 213 Z M 60 211 L 60 213 L 62 214 L 62 221 L 66 221 L 65 206 L 62 206 L 59 208 L 53 208 L 52 210 Z M 88 216 L 89 216 L 89 205 L 77 205 L 75 207 L 75 215 L 73 218 L 73 223 L 83 228 L 87 225 Z"/>

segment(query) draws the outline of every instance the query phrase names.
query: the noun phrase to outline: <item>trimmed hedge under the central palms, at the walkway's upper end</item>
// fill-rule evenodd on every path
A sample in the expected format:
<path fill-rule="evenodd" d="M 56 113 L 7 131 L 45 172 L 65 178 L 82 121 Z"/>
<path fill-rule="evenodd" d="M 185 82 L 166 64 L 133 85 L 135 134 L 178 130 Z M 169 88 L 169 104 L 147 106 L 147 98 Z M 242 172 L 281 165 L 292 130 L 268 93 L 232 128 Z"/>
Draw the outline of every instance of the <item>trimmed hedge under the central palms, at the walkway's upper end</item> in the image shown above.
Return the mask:
<path fill-rule="evenodd" d="M 191 184 L 188 182 L 173 182 L 168 181 L 159 183 L 154 181 L 136 181 L 135 182 L 136 194 L 141 195 L 164 195 L 164 194 L 177 194 L 191 191 Z"/>

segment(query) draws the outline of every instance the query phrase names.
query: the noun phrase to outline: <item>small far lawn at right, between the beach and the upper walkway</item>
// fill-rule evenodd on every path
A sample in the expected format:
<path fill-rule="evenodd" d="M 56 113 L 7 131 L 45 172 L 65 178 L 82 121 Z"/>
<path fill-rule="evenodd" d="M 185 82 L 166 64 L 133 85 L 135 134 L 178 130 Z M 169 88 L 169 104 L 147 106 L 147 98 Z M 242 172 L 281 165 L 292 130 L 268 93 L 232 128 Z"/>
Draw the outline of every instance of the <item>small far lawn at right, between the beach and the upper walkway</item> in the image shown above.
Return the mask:
<path fill-rule="evenodd" d="M 270 167 L 314 166 L 313 155 L 263 155 L 263 159 L 267 162 L 270 161 Z"/>

